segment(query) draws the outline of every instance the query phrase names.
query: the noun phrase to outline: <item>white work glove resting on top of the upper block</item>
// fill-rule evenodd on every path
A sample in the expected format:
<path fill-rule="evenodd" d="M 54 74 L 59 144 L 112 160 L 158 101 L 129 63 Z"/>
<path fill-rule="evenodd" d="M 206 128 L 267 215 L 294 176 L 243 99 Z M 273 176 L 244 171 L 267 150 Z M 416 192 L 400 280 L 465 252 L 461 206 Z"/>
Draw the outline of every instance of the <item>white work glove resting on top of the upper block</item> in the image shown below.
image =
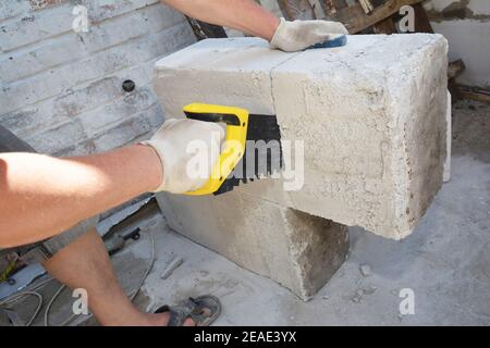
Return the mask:
<path fill-rule="evenodd" d="M 284 52 L 303 51 L 310 46 L 335 39 L 348 32 L 340 22 L 294 21 L 281 18 L 275 34 L 270 40 L 271 49 Z"/>

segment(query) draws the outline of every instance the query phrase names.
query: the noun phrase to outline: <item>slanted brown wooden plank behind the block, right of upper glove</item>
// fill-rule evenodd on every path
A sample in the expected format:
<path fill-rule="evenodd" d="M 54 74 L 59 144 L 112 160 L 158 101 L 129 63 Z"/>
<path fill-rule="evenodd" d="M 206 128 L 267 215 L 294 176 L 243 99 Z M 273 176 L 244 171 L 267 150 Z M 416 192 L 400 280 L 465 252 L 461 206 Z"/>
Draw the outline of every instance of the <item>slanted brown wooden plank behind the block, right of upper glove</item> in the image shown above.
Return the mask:
<path fill-rule="evenodd" d="M 356 34 L 397 13 L 401 7 L 416 5 L 422 1 L 424 0 L 388 0 L 384 5 L 376 8 L 369 15 L 366 15 L 363 7 L 359 3 L 356 3 L 346 9 L 338 10 L 336 18 L 347 27 L 348 33 Z"/>

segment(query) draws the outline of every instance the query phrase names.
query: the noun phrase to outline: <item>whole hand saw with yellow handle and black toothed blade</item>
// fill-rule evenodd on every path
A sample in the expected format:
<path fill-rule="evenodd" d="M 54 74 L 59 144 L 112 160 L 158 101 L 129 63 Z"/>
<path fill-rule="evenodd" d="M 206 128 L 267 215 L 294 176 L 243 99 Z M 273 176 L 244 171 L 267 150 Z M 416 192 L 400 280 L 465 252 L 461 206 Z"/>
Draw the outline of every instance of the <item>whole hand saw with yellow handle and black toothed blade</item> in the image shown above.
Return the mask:
<path fill-rule="evenodd" d="M 187 119 L 224 123 L 225 142 L 208 182 L 188 196 L 221 195 L 240 183 L 261 178 L 282 169 L 281 133 L 275 115 L 250 114 L 248 110 L 192 103 Z"/>

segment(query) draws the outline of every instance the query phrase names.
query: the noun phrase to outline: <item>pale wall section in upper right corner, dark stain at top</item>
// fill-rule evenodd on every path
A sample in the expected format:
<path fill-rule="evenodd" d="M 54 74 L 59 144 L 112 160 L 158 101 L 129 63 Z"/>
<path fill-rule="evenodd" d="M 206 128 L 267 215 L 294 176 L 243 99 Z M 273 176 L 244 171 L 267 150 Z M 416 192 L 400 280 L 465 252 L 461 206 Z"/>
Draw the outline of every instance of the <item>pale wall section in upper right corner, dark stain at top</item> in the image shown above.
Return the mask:
<path fill-rule="evenodd" d="M 450 60 L 466 64 L 458 82 L 490 87 L 490 1 L 431 0 L 425 7 L 434 30 L 450 42 Z"/>

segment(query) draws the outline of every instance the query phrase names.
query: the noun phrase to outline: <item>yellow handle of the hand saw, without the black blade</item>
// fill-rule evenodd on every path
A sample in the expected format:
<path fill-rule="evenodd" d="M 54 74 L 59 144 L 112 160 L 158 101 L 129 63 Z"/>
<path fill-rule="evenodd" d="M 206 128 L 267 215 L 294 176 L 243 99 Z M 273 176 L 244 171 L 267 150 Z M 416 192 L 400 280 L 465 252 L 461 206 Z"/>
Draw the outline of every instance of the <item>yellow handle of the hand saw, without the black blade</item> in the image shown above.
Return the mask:
<path fill-rule="evenodd" d="M 245 109 L 192 103 L 184 108 L 187 119 L 225 123 L 226 137 L 209 181 L 199 189 L 186 192 L 188 196 L 204 196 L 216 192 L 245 153 L 248 129 L 248 111 Z"/>

